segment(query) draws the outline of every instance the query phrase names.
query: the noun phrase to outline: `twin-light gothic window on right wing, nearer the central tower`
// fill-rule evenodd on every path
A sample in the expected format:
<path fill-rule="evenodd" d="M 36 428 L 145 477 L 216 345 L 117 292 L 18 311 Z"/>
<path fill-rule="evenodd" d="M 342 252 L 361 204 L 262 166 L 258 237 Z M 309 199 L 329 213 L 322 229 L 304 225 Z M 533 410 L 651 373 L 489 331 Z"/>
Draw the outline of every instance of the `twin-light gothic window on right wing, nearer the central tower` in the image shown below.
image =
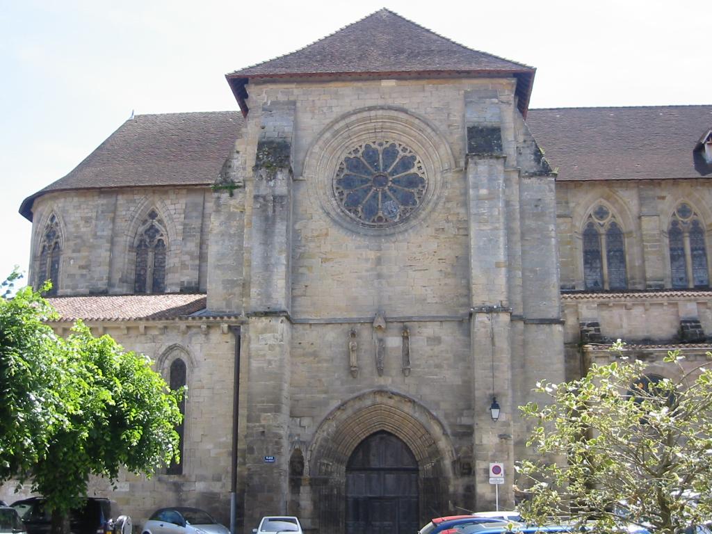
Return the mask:
<path fill-rule="evenodd" d="M 590 214 L 582 238 L 585 288 L 626 289 L 625 237 L 606 206 L 599 204 Z"/>

